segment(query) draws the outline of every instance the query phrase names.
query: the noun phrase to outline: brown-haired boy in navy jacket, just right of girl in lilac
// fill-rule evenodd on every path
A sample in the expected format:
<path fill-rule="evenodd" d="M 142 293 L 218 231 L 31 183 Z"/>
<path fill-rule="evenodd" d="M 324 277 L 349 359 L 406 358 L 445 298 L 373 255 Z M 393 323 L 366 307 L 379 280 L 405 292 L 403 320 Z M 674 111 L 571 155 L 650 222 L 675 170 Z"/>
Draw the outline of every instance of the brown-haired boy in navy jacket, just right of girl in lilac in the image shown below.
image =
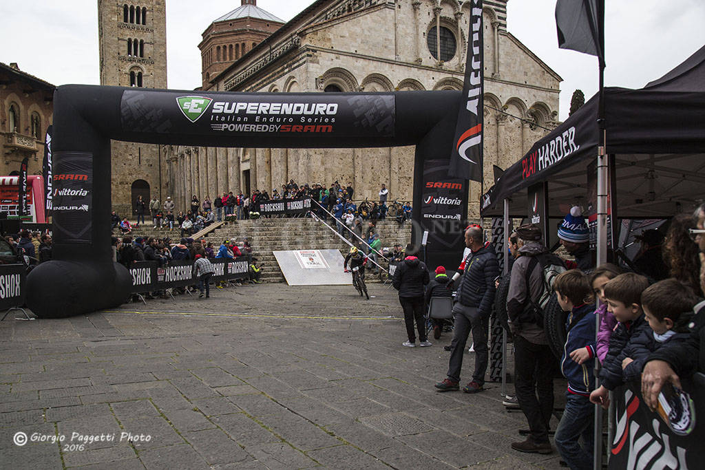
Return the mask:
<path fill-rule="evenodd" d="M 622 363 L 627 358 L 627 346 L 642 331 L 651 330 L 642 310 L 642 292 L 646 287 L 649 287 L 649 280 L 635 273 L 620 274 L 604 287 L 607 311 L 618 323 L 600 371 L 601 385 L 590 394 L 590 401 L 605 409 L 610 403 L 609 391 L 624 383 Z"/>

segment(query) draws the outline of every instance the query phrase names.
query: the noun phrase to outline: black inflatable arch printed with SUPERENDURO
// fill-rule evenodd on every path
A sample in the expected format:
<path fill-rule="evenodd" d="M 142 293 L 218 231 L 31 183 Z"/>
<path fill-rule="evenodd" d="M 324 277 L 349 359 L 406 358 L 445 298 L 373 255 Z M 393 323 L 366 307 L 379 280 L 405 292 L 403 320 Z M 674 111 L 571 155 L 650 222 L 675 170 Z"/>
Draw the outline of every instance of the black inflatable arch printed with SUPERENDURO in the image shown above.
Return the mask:
<path fill-rule="evenodd" d="M 207 147 L 416 145 L 415 231 L 429 231 L 429 268 L 453 266 L 467 218 L 467 181 L 448 178 L 460 101 L 458 91 L 243 94 L 61 86 L 52 142 L 54 259 L 30 272 L 27 306 L 39 317 L 58 318 L 128 298 L 128 270 L 111 256 L 111 139 Z"/>

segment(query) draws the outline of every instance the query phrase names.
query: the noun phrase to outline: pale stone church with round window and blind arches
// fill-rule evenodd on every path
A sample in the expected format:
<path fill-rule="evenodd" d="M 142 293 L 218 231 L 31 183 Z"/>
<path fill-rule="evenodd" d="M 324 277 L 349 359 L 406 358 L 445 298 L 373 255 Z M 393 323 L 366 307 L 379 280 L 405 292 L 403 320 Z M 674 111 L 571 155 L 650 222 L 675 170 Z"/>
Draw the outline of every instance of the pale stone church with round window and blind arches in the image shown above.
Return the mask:
<path fill-rule="evenodd" d="M 560 77 L 506 30 L 506 0 L 484 2 L 485 185 L 556 125 Z M 389 92 L 462 89 L 470 1 L 319 0 L 235 60 L 211 91 Z M 374 199 L 412 199 L 413 147 L 243 149 L 168 146 L 168 185 L 179 207 L 192 194 L 271 191 L 352 182 Z M 470 185 L 470 214 L 480 185 Z"/>

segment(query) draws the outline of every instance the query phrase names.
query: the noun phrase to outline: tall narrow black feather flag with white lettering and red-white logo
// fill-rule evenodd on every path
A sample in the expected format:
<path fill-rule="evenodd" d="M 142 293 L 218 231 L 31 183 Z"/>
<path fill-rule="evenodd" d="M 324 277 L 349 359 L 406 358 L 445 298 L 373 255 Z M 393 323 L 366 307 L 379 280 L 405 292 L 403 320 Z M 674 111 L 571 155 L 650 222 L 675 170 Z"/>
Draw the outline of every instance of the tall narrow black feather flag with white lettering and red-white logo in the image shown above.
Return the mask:
<path fill-rule="evenodd" d="M 465 84 L 462 104 L 455 123 L 451 178 L 482 181 L 482 119 L 484 115 L 484 75 L 482 41 L 482 0 L 472 0 L 470 32 L 467 37 Z"/>

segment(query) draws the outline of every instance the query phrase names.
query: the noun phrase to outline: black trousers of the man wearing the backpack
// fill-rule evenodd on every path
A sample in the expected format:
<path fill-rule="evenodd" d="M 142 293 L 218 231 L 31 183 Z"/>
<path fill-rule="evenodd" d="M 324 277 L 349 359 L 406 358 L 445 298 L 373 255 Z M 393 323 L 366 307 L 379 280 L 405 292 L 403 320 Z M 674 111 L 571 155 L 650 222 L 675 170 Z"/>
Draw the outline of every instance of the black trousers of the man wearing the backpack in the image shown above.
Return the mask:
<path fill-rule="evenodd" d="M 519 406 L 529 421 L 534 443 L 547 443 L 556 357 L 547 345 L 534 344 L 520 335 L 514 336 L 514 347 L 514 388 Z"/>

